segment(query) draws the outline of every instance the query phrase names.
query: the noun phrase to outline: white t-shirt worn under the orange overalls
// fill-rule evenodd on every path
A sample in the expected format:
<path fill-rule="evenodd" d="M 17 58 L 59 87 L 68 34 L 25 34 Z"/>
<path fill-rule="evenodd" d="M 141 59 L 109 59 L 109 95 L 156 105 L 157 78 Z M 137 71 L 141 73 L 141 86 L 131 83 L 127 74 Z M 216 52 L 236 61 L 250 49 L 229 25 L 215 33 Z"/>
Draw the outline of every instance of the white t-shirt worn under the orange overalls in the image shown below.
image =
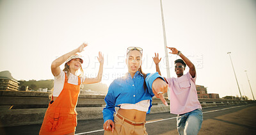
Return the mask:
<path fill-rule="evenodd" d="M 81 84 L 83 83 L 84 79 L 81 77 Z M 65 72 L 61 70 L 60 74 L 54 77 L 54 86 L 53 86 L 53 97 L 58 97 L 63 89 L 65 83 Z M 78 77 L 74 74 L 69 74 L 68 77 L 69 84 L 78 84 Z"/>

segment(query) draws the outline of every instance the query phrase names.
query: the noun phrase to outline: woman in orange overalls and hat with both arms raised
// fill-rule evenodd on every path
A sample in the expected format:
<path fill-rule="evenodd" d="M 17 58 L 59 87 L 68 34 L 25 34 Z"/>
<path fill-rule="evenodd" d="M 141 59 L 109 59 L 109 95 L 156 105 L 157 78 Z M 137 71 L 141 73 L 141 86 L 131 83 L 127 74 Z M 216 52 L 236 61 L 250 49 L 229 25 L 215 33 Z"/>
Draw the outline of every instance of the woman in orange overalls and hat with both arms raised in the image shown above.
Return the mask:
<path fill-rule="evenodd" d="M 83 79 L 76 75 L 77 70 L 83 69 L 81 64 L 83 59 L 76 54 L 82 52 L 87 44 L 80 45 L 60 58 L 52 62 L 51 70 L 54 75 L 54 91 L 51 102 L 44 116 L 44 122 L 39 134 L 75 134 L 77 125 L 76 105 L 80 91 L 80 84 L 92 84 L 101 81 L 104 58 L 99 52 L 99 73 L 95 78 Z M 60 65 L 65 63 L 65 68 L 60 69 Z"/>

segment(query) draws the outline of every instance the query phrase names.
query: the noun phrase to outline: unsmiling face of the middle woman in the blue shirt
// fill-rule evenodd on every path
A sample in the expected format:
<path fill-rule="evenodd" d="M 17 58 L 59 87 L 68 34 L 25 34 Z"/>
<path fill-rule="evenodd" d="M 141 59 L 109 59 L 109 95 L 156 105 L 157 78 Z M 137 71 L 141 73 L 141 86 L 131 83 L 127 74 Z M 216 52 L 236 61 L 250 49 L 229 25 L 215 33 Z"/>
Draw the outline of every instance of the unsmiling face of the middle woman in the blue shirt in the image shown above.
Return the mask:
<path fill-rule="evenodd" d="M 128 72 L 134 75 L 140 68 L 142 63 L 142 54 L 140 51 L 129 51 L 126 58 L 126 64 L 128 67 Z"/>

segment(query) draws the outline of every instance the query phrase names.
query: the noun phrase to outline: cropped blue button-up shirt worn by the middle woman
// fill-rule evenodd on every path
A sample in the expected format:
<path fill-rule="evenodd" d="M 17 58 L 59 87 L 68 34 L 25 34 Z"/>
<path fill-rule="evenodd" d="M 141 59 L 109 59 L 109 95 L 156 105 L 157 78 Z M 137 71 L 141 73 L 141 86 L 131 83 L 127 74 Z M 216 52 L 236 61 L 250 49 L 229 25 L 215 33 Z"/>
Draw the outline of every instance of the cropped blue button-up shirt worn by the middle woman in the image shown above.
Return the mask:
<path fill-rule="evenodd" d="M 107 120 L 113 120 L 115 107 L 120 107 L 120 104 L 136 104 L 141 100 L 150 100 L 150 108 L 152 107 L 152 97 L 154 93 L 152 91 L 152 83 L 161 77 L 157 72 L 154 74 L 147 74 L 145 82 L 147 84 L 146 90 L 143 87 L 144 77 L 140 72 L 136 72 L 134 77 L 127 73 L 125 77 L 115 79 L 108 88 L 108 94 L 105 97 L 106 107 L 104 107 L 103 119 L 104 123 Z M 163 79 L 163 77 L 161 77 Z M 163 79 L 164 80 L 164 79 Z"/>

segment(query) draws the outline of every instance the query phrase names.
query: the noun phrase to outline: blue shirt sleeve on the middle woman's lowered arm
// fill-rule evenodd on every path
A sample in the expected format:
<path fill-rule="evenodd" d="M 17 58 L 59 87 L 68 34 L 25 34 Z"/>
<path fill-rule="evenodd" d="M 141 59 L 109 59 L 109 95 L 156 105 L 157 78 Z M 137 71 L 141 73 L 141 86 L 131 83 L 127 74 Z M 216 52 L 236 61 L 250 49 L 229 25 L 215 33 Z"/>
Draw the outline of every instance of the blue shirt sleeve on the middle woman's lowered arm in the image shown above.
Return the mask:
<path fill-rule="evenodd" d="M 114 122 L 114 112 L 115 112 L 115 102 L 116 97 L 113 93 L 113 88 L 115 88 L 114 84 L 112 83 L 108 88 L 108 94 L 105 97 L 106 107 L 104 107 L 102 113 L 103 113 L 103 119 L 104 123 L 107 120 L 112 120 Z"/>

